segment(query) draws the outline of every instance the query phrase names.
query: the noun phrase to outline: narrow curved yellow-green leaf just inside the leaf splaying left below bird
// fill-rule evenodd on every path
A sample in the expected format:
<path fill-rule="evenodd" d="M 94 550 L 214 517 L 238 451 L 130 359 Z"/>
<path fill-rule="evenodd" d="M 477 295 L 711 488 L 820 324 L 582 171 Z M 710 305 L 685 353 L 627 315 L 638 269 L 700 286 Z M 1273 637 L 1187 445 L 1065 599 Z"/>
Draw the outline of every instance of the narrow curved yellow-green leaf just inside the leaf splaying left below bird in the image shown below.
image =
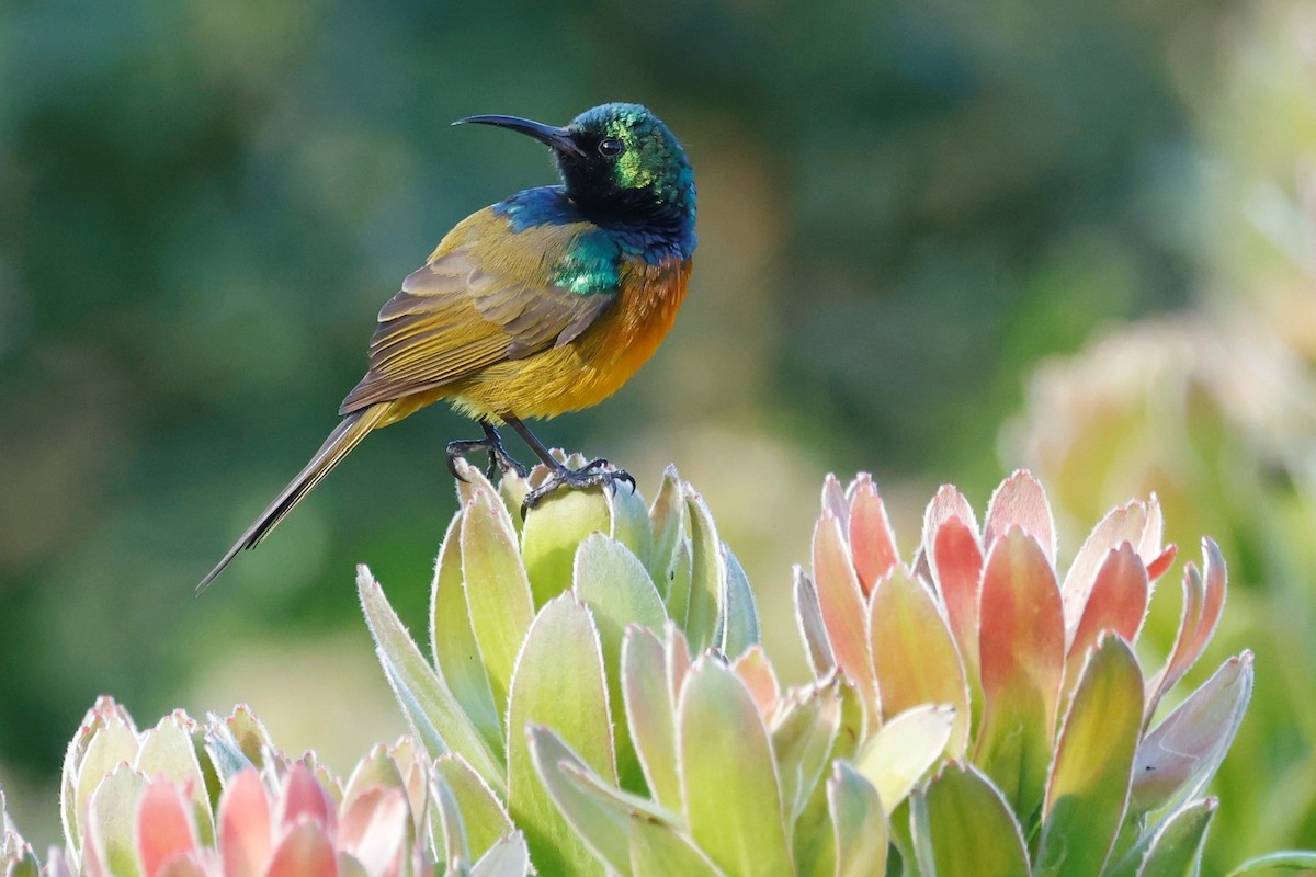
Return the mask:
<path fill-rule="evenodd" d="M 480 732 L 490 749 L 503 752 L 503 723 L 494 705 L 480 647 L 471 628 L 471 610 L 462 586 L 462 515 L 454 515 L 434 561 L 434 582 L 429 592 L 429 646 L 440 678 L 461 703 L 466 718 Z"/>

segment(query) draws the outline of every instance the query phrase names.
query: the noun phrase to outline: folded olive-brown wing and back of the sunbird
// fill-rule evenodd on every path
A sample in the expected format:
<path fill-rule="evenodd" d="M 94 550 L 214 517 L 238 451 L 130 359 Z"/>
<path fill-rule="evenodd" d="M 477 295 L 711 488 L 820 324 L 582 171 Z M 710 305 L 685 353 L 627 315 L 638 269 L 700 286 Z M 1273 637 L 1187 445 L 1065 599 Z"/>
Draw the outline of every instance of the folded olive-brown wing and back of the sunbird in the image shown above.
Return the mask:
<path fill-rule="evenodd" d="M 494 241 L 503 246 L 491 246 L 482 235 L 457 245 L 445 239 L 380 309 L 370 339 L 370 371 L 340 413 L 442 387 L 575 339 L 616 292 L 579 293 L 534 283 L 549 273 L 571 233 L 570 226 L 557 226 L 551 235 L 504 233 Z"/>

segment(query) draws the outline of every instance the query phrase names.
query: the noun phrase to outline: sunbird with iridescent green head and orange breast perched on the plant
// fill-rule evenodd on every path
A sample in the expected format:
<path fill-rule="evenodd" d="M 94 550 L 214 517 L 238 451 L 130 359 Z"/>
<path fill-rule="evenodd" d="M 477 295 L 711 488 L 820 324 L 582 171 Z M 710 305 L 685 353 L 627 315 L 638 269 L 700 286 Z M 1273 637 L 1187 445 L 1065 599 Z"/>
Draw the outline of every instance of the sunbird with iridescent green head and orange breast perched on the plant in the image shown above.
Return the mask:
<path fill-rule="evenodd" d="M 640 104 L 594 107 L 565 126 L 517 116 L 454 125 L 503 128 L 549 147 L 561 183 L 476 210 L 403 280 L 379 310 L 368 368 L 342 417 L 288 483 L 200 581 L 204 590 L 255 547 L 374 430 L 446 400 L 480 425 L 446 447 L 447 468 L 488 455 L 488 475 L 529 469 L 503 444 L 511 426 L 549 469 L 522 515 L 561 488 L 634 479 L 596 458 L 567 468 L 525 425 L 596 405 L 653 355 L 672 327 L 692 268 L 695 175 L 671 130 Z"/>

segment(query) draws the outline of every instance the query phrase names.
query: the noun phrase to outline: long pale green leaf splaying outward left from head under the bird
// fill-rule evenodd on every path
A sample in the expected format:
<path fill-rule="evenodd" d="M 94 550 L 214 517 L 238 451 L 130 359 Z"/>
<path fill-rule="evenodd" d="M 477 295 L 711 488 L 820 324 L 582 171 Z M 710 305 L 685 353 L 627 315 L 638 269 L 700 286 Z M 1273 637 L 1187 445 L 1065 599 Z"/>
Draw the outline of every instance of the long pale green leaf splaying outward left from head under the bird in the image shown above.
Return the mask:
<path fill-rule="evenodd" d="M 466 718 L 443 680 L 425 663 L 397 613 L 388 605 L 383 588 L 365 565 L 357 567 L 357 592 L 384 676 L 430 756 L 438 757 L 451 749 L 466 759 L 490 786 L 505 792 L 501 760 Z"/>

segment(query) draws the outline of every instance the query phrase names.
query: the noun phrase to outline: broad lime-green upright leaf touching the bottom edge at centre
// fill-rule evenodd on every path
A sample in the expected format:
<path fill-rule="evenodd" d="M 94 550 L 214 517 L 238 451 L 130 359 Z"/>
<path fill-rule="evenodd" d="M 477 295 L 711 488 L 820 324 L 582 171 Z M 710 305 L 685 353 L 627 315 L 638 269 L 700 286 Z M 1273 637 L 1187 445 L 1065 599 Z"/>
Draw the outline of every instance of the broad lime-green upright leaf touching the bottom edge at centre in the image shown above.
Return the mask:
<path fill-rule="evenodd" d="M 700 657 L 682 686 L 676 728 L 695 843 L 728 874 L 790 874 L 772 747 L 744 682 Z"/>

